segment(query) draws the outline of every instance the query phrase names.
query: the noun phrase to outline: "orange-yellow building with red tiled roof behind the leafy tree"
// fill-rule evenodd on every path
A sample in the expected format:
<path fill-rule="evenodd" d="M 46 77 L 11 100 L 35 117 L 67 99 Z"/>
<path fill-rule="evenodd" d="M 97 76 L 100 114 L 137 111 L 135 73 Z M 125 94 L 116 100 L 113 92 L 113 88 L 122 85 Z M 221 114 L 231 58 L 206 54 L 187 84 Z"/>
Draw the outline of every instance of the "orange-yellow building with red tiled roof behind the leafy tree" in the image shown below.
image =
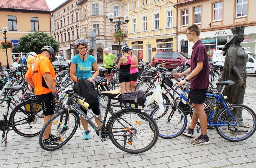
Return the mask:
<path fill-rule="evenodd" d="M 0 29 L 7 27 L 7 41 L 18 45 L 20 37 L 35 31 L 44 31 L 50 35 L 50 8 L 44 0 L 1 0 L 0 4 Z M 3 32 L 2 32 L 3 33 Z M 1 34 L 2 34 L 1 33 Z M 0 38 L 0 43 L 4 42 L 4 34 Z M 13 63 L 13 58 L 20 54 L 22 60 L 26 53 L 19 53 L 14 49 L 7 50 L 9 65 Z M 0 64 L 2 68 L 6 66 L 6 52 L 0 50 Z M 0 67 L 1 68 L 1 67 Z"/>

